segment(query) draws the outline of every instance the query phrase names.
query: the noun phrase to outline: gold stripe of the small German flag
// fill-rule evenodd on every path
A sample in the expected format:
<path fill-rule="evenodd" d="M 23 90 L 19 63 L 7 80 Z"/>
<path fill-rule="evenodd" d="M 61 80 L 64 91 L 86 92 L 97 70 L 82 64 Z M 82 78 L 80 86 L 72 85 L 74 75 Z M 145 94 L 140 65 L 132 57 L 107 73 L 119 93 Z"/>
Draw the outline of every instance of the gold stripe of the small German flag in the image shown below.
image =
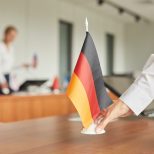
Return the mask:
<path fill-rule="evenodd" d="M 85 128 L 89 127 L 93 119 L 90 111 L 88 97 L 80 79 L 75 73 L 72 75 L 70 84 L 67 89 L 67 95 L 79 112 L 83 126 Z"/>

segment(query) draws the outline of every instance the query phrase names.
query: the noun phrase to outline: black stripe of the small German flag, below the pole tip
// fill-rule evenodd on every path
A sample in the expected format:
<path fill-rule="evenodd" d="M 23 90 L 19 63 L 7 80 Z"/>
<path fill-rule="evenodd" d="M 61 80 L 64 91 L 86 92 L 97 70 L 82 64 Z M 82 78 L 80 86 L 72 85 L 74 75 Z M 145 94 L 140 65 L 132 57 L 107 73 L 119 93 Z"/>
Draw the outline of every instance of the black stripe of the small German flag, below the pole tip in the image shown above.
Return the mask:
<path fill-rule="evenodd" d="M 99 106 L 101 109 L 106 108 L 112 103 L 112 100 L 106 92 L 97 51 L 88 32 L 81 51 L 86 56 L 91 67 Z"/>

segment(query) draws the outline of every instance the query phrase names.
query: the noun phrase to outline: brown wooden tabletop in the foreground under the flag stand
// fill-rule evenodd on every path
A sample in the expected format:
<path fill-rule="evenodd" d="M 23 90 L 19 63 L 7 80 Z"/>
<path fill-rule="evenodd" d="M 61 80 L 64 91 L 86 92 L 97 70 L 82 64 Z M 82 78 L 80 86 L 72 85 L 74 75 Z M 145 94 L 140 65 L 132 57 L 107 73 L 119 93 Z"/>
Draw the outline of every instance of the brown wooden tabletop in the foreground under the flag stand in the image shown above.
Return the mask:
<path fill-rule="evenodd" d="M 0 154 L 154 154 L 154 121 L 120 119 L 103 135 L 80 134 L 68 117 L 0 124 Z"/>

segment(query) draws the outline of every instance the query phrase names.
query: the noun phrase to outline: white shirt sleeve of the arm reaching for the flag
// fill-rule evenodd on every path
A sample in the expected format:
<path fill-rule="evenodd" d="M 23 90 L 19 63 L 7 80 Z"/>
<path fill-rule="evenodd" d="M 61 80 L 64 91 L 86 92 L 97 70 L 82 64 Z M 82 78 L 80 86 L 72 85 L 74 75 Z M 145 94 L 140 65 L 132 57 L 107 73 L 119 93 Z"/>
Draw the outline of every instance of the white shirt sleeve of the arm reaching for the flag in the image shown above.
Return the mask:
<path fill-rule="evenodd" d="M 128 107 L 139 115 L 154 99 L 154 54 L 150 56 L 142 73 L 120 97 Z"/>

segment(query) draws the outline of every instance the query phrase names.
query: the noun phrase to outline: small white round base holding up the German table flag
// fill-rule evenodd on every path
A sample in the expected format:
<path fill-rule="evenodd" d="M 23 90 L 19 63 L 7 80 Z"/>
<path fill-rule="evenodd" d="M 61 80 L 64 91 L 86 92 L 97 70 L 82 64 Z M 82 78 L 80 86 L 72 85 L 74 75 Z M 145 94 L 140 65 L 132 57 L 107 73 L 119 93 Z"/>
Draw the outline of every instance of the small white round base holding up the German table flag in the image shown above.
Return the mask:
<path fill-rule="evenodd" d="M 99 133 L 96 132 L 96 124 L 92 123 L 88 128 L 83 128 L 81 130 L 81 134 L 87 135 L 97 135 L 97 134 L 104 134 L 105 130 L 100 131 Z"/>

